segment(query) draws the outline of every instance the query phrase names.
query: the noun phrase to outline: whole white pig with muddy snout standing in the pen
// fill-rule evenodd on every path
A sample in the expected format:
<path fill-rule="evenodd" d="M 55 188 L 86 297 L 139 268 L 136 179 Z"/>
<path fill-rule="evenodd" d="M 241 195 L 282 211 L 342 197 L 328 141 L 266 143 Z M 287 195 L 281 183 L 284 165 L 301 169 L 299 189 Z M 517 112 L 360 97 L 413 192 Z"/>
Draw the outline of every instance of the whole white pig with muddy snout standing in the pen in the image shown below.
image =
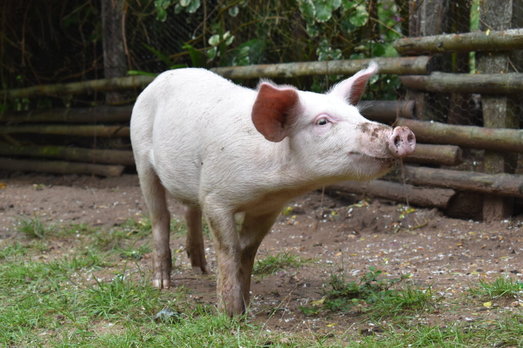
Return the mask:
<path fill-rule="evenodd" d="M 411 154 L 416 139 L 360 115 L 366 69 L 320 94 L 261 81 L 256 90 L 211 71 L 165 71 L 139 95 L 131 142 L 153 234 L 153 286 L 170 286 L 166 194 L 185 205 L 192 269 L 209 273 L 202 212 L 218 261 L 218 308 L 245 313 L 258 246 L 285 204 L 340 181 L 368 181 Z M 235 214 L 243 213 L 240 231 Z"/>

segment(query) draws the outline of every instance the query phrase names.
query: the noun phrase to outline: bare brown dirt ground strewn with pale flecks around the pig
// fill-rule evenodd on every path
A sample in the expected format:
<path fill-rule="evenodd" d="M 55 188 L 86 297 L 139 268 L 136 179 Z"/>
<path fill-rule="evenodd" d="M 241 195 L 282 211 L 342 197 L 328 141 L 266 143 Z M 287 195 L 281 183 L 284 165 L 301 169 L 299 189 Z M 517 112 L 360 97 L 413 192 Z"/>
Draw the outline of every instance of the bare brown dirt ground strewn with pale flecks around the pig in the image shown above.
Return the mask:
<path fill-rule="evenodd" d="M 408 273 L 416 285 L 431 285 L 437 296 L 444 296 L 444 302 L 433 314 L 419 317 L 420 323 L 450 325 L 495 317 L 502 307 L 521 310 L 507 303 L 486 308 L 481 301 L 463 297 L 480 279 L 493 280 L 509 274 L 523 281 L 520 217 L 487 224 L 450 219 L 437 209 L 412 211 L 390 201 L 360 199 L 325 196 L 322 202 L 321 193 L 312 192 L 289 203 L 292 210 L 280 215 L 258 256 L 289 251 L 312 261 L 267 277 L 253 276 L 253 320 L 266 322 L 275 330 L 372 328 L 372 323 L 362 322 L 355 312 L 324 311 L 310 317 L 299 309 L 322 298 L 322 285 L 329 274 L 342 270 L 342 265 L 347 281 L 359 279 L 369 266 L 374 266 L 386 271 L 388 278 Z M 182 206 L 174 200 L 169 205 L 173 217 L 179 218 Z M 0 247 L 2 242 L 27 238 L 13 229 L 10 217 L 20 214 L 37 215 L 53 223 L 87 223 L 109 229 L 128 218 L 143 218 L 146 208 L 136 175 L 105 179 L 77 175 L 0 178 Z M 151 245 L 150 237 L 143 243 Z M 215 270 L 208 237 L 205 244 L 208 261 Z M 215 275 L 191 272 L 185 238 L 172 239 L 170 246 L 176 255 L 174 285 L 185 286 L 191 293 L 190 301 L 214 303 Z M 150 261 L 150 257 L 139 261 L 146 272 L 151 271 Z"/>

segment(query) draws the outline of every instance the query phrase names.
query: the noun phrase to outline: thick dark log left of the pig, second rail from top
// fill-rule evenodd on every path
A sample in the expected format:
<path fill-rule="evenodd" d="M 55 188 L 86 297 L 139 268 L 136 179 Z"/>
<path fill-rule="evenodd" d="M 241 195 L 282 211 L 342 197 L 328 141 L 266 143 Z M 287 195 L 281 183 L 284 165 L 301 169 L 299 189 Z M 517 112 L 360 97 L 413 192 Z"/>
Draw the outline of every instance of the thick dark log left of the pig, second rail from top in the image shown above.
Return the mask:
<path fill-rule="evenodd" d="M 56 109 L 6 111 L 0 114 L 0 122 L 33 123 L 33 122 L 66 122 L 66 123 L 100 123 L 129 122 L 132 105 L 129 106 L 94 106 L 94 107 L 61 107 Z"/>

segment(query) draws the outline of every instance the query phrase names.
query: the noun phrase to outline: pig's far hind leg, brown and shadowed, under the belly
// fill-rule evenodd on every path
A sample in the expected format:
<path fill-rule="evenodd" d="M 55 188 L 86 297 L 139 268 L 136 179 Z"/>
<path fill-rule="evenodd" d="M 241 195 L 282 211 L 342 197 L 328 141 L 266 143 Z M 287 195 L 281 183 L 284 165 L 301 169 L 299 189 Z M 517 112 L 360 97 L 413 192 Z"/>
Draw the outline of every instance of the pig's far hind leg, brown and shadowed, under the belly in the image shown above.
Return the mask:
<path fill-rule="evenodd" d="M 203 247 L 201 210 L 197 207 L 185 207 L 185 221 L 187 223 L 187 256 L 191 260 L 192 271 L 210 273 Z"/>

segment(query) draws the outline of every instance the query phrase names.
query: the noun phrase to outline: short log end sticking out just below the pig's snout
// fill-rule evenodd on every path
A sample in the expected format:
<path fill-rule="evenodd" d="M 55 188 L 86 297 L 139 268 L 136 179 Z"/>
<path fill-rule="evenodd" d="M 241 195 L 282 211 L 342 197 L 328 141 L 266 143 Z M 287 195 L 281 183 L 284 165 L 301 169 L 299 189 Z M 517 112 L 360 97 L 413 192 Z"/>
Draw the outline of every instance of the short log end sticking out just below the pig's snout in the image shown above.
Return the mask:
<path fill-rule="evenodd" d="M 405 162 L 458 165 L 463 163 L 463 151 L 459 146 L 416 144 L 416 151 L 404 157 Z"/>

